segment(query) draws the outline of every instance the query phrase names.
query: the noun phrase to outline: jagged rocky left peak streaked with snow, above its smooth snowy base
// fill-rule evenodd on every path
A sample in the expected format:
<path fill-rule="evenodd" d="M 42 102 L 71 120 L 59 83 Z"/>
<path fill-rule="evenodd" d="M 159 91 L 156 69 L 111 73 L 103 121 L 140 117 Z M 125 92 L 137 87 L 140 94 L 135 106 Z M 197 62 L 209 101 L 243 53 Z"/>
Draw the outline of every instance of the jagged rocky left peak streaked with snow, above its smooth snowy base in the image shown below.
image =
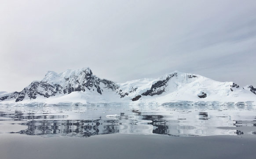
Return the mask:
<path fill-rule="evenodd" d="M 128 95 L 127 92 L 122 92 L 115 82 L 96 77 L 89 67 L 77 71 L 68 70 L 61 74 L 48 71 L 42 81 L 33 81 L 21 92 L 13 92 L 0 97 L 0 101 L 15 99 L 15 102 L 19 102 L 25 98 L 36 99 L 39 96 L 49 98 L 57 94 L 69 94 L 77 91 L 96 91 L 102 94 L 104 90 L 117 92 L 121 98 Z"/>

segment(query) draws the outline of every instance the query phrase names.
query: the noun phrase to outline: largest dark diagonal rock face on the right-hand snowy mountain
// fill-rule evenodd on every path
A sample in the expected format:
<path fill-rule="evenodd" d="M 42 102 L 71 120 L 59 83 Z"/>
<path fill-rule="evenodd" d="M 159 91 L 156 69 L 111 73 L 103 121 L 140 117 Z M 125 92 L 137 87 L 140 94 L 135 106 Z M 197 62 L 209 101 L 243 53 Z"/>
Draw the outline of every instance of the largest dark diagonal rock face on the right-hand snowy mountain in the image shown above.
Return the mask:
<path fill-rule="evenodd" d="M 165 92 L 165 87 L 167 86 L 167 82 L 173 77 L 177 77 L 177 73 L 170 74 L 166 79 L 157 81 L 155 84 L 151 86 L 150 90 L 147 90 L 141 95 L 150 95 L 150 96 L 161 95 L 163 92 Z"/>

